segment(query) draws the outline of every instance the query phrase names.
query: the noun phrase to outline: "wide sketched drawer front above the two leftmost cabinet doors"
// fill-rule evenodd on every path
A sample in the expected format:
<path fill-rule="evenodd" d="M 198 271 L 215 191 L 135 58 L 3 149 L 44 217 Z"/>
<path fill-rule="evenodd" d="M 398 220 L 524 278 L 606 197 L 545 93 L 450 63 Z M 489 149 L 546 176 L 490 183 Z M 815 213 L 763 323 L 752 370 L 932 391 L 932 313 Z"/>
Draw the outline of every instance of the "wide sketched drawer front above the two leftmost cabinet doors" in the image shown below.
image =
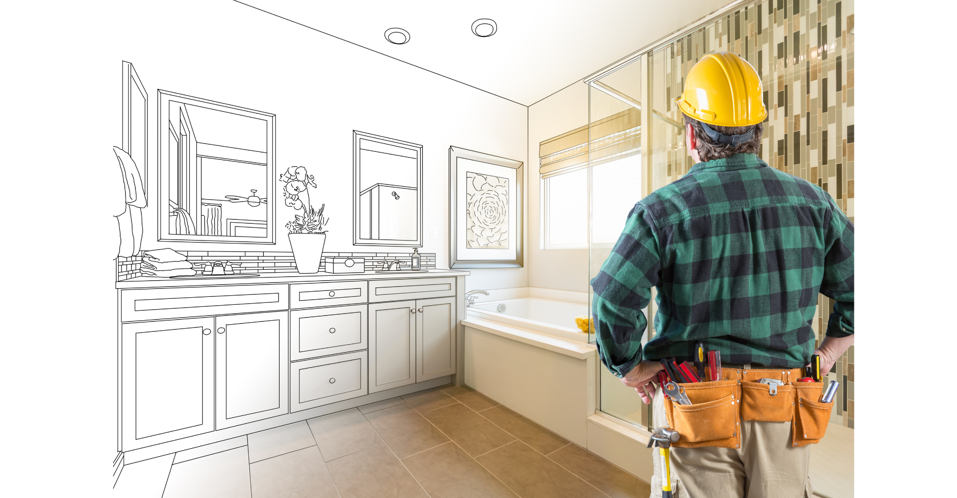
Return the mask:
<path fill-rule="evenodd" d="M 121 294 L 122 321 L 288 310 L 289 286 L 249 285 L 131 289 Z"/>

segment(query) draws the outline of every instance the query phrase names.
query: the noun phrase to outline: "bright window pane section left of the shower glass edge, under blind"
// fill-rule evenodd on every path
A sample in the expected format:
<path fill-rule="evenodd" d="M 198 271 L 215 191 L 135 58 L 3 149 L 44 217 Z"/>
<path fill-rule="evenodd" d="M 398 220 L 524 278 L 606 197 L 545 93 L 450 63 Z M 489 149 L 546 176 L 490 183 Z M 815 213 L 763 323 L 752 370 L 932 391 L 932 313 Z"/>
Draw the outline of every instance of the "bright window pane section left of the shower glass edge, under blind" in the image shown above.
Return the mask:
<path fill-rule="evenodd" d="M 542 249 L 588 248 L 588 169 L 542 181 Z"/>

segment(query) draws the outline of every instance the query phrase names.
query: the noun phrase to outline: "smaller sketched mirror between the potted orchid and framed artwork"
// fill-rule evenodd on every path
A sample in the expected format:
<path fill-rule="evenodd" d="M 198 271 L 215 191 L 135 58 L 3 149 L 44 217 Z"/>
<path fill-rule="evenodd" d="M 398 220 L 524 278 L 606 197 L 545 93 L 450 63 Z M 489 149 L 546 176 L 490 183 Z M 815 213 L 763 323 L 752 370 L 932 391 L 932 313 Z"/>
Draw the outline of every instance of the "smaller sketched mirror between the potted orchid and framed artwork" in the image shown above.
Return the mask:
<path fill-rule="evenodd" d="M 357 246 L 422 247 L 422 145 L 353 131 Z"/>

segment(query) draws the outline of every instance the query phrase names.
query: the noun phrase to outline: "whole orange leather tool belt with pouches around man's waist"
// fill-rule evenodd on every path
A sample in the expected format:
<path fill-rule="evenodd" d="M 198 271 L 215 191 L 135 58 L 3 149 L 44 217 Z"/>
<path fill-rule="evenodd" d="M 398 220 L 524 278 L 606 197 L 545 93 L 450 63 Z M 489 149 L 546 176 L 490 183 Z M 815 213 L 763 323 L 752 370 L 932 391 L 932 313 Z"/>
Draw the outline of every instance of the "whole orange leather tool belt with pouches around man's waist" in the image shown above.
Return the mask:
<path fill-rule="evenodd" d="M 834 401 L 820 402 L 824 382 L 798 382 L 800 368 L 722 368 L 722 380 L 679 383 L 691 404 L 664 401 L 668 425 L 681 435 L 678 447 L 741 447 L 741 422 L 791 422 L 791 446 L 817 443 L 824 437 Z M 771 386 L 761 379 L 779 379 Z M 774 395 L 771 392 L 774 391 Z"/>

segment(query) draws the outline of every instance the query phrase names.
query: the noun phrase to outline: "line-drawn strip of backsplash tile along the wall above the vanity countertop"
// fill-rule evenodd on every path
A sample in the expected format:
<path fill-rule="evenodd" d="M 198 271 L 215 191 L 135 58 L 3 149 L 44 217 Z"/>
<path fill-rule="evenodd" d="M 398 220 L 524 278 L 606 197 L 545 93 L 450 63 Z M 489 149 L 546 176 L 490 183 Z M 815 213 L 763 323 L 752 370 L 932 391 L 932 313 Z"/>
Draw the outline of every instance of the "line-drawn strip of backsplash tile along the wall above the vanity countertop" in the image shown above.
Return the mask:
<path fill-rule="evenodd" d="M 296 258 L 292 252 L 269 251 L 214 251 L 189 250 L 185 252 L 187 261 L 192 263 L 196 271 L 202 271 L 207 262 L 222 261 L 233 264 L 233 269 L 239 273 L 290 273 L 296 271 Z M 331 257 L 359 257 L 366 259 L 366 271 L 382 270 L 382 262 L 401 262 L 403 268 L 412 265 L 412 254 L 409 252 L 323 252 L 323 263 L 319 271 L 325 271 L 325 261 Z M 421 267 L 423 270 L 435 269 L 435 253 L 421 253 Z M 117 258 L 117 281 L 129 280 L 143 276 L 140 265 L 143 263 L 143 253 L 135 256 Z"/>

